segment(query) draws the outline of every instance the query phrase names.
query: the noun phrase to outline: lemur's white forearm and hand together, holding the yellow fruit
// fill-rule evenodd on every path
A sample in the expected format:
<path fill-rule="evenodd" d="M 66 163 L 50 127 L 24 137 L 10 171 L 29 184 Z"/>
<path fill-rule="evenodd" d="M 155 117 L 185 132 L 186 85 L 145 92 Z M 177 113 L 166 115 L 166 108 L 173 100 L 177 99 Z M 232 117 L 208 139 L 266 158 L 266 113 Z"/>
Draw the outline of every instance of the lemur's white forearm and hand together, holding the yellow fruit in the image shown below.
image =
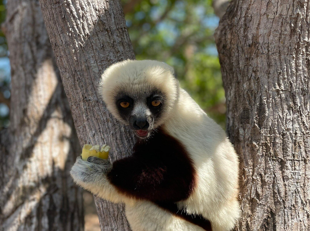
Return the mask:
<path fill-rule="evenodd" d="M 75 183 L 103 199 L 115 203 L 132 203 L 133 199 L 121 194 L 108 181 L 107 173 L 111 169 L 112 164 L 108 160 L 88 157 L 87 161 L 83 161 L 82 157 L 79 156 L 70 174 Z"/>

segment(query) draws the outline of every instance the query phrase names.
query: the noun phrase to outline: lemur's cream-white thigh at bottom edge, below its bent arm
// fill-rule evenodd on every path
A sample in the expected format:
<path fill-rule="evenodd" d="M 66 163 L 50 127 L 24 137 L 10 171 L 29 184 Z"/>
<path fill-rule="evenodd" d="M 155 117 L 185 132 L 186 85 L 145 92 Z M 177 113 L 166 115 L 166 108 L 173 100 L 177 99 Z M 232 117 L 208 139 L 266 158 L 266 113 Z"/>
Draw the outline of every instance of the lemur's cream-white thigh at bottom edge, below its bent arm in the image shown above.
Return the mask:
<path fill-rule="evenodd" d="M 126 217 L 134 231 L 206 231 L 146 200 L 126 204 Z"/>

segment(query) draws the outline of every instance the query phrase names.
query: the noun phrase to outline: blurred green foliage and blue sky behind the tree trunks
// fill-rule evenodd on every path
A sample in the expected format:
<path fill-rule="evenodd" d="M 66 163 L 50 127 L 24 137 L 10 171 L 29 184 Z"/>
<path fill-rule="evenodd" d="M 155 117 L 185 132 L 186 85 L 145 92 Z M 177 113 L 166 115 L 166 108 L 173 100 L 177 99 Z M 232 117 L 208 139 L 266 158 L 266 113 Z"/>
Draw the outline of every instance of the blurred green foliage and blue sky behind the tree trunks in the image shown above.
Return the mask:
<path fill-rule="evenodd" d="M 214 30 L 219 18 L 211 0 L 121 0 L 136 59 L 175 68 L 181 87 L 222 127 L 225 94 Z M 6 1 L 0 0 L 0 22 Z M 9 125 L 10 67 L 0 31 L 0 129 Z"/>

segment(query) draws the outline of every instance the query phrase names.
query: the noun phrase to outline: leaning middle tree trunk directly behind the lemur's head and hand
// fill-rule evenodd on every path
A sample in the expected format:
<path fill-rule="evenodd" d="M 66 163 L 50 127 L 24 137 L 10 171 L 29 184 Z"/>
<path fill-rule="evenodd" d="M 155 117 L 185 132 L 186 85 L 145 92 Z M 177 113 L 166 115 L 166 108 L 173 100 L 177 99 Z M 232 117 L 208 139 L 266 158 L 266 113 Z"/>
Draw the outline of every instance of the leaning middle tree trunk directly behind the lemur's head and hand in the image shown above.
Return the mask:
<path fill-rule="evenodd" d="M 134 59 L 118 0 L 40 0 L 80 144 L 108 144 L 110 160 L 131 152 L 134 136 L 96 94 L 109 65 Z M 95 199 L 101 230 L 130 230 L 121 205 Z"/>

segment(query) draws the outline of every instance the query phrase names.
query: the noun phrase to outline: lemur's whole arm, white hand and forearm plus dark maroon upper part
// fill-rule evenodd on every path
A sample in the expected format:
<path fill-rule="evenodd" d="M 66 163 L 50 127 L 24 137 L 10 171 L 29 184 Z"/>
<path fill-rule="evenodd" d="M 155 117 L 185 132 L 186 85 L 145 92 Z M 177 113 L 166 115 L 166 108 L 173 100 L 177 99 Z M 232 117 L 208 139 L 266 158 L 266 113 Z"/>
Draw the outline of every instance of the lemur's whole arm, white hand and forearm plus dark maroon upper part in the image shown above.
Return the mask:
<path fill-rule="evenodd" d="M 112 166 L 97 157 L 89 157 L 88 161 L 78 157 L 70 173 L 78 185 L 112 202 L 176 202 L 187 198 L 193 188 L 186 168 L 177 159 L 165 163 L 160 158 L 143 160 L 131 156 Z"/>

